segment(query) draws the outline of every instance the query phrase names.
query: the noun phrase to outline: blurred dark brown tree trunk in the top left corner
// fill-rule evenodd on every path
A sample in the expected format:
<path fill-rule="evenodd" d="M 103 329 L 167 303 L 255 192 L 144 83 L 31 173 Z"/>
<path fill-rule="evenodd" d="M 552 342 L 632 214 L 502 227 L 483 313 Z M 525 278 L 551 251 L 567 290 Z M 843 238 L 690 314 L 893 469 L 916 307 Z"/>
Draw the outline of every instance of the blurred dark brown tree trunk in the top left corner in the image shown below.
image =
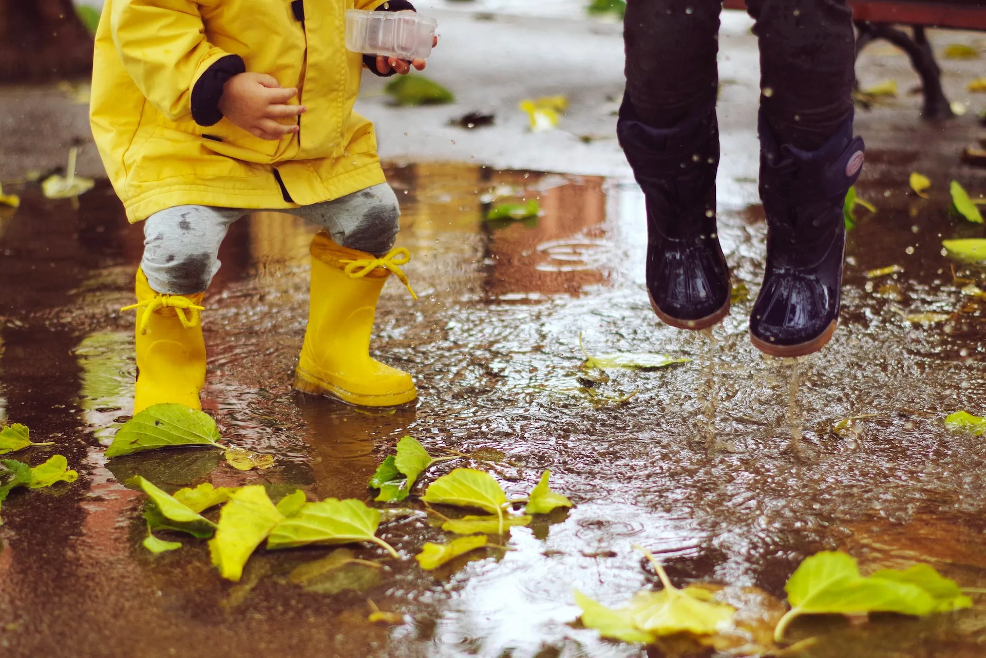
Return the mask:
<path fill-rule="evenodd" d="M 0 83 L 89 75 L 93 37 L 72 0 L 0 0 Z"/>

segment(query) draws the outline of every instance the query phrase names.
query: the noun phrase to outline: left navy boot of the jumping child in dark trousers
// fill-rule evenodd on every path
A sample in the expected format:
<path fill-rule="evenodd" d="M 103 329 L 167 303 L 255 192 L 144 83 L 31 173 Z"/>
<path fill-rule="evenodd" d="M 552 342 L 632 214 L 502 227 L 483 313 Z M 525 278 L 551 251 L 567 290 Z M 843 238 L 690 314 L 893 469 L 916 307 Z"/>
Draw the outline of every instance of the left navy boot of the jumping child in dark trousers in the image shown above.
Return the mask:
<path fill-rule="evenodd" d="M 715 94 L 667 129 L 641 122 L 624 95 L 616 134 L 647 200 L 651 306 L 671 327 L 712 327 L 730 312 L 731 296 L 716 229 Z"/>

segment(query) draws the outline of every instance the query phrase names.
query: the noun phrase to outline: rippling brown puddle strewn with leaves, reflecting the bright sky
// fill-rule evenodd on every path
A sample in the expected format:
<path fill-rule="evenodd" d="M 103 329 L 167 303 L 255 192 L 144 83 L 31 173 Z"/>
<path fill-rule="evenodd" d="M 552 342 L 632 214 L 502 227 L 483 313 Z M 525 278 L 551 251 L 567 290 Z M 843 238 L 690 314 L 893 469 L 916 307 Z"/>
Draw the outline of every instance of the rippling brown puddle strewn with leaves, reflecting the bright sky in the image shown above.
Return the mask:
<path fill-rule="evenodd" d="M 963 299 L 938 237 L 982 229 L 958 225 L 941 199 L 908 196 L 912 160 L 874 159 L 859 188 L 880 212 L 851 234 L 840 329 L 795 366 L 762 357 L 747 338 L 765 232 L 756 207 L 724 212 L 720 231 L 750 298 L 704 336 L 662 326 L 650 309 L 634 185 L 459 164 L 391 167 L 398 244 L 413 255 L 406 269 L 421 297 L 413 302 L 391 281 L 378 312 L 372 351 L 411 372 L 420 394 L 396 411 L 291 391 L 313 230 L 276 213 L 242 220 L 206 297 L 203 406 L 228 440 L 276 456 L 272 469 L 249 473 L 194 450 L 106 464 L 99 445 L 132 403 L 133 318 L 118 309 L 130 303 L 140 231 L 105 183 L 78 211 L 17 190 L 21 209 L 0 219 L 0 418 L 56 441 L 80 478 L 60 496 L 4 504 L 0 646 L 12 656 L 65 646 L 147 657 L 642 656 L 571 624 L 573 588 L 616 605 L 653 581 L 634 544 L 653 549 L 677 583 L 707 580 L 736 596 L 783 598 L 790 573 L 821 548 L 850 549 L 866 570 L 930 561 L 964 585 L 986 586 L 982 441 L 942 423 L 957 408 L 986 410 L 986 316 Z M 508 195 L 537 198 L 541 215 L 485 221 Z M 892 264 L 902 271 L 865 275 Z M 892 299 L 880 294 L 891 281 Z M 922 326 L 900 310 L 957 315 Z M 607 394 L 637 393 L 594 404 L 578 392 L 580 332 L 593 353 L 693 360 L 607 371 Z M 847 418 L 855 419 L 833 429 Z M 276 496 L 302 488 L 369 501 L 367 478 L 406 434 L 433 454 L 501 451 L 495 471 L 509 493 L 550 469 L 552 487 L 576 506 L 514 529 L 516 550 L 477 552 L 435 572 L 408 559 L 339 580 L 318 571 L 330 549 L 304 548 L 260 551 L 234 585 L 219 579 L 204 544 L 183 540 L 160 556 L 142 548 L 141 496 L 120 483 L 137 474 L 166 488 L 255 482 Z M 382 536 L 405 556 L 445 538 L 423 514 L 388 521 Z M 316 584 L 300 584 L 298 574 L 312 572 Z M 369 601 L 404 622 L 370 623 Z M 971 611 L 792 630 L 827 633 L 804 655 L 852 647 L 851 655 L 974 656 L 984 621 Z"/>

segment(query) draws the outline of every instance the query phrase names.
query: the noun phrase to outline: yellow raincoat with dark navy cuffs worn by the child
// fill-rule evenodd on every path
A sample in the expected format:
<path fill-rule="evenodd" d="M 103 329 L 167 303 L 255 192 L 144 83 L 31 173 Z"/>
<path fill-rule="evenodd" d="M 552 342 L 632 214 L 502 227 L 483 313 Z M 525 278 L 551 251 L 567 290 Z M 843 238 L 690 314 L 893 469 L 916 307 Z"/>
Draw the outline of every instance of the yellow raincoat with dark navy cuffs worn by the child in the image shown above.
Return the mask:
<path fill-rule="evenodd" d="M 307 0 L 303 22 L 291 0 L 106 0 L 90 119 L 128 219 L 185 204 L 290 208 L 384 183 L 373 124 L 353 112 L 363 58 L 345 48 L 352 8 Z M 227 118 L 192 119 L 195 82 L 230 54 L 299 89 L 300 132 L 267 141 Z"/>

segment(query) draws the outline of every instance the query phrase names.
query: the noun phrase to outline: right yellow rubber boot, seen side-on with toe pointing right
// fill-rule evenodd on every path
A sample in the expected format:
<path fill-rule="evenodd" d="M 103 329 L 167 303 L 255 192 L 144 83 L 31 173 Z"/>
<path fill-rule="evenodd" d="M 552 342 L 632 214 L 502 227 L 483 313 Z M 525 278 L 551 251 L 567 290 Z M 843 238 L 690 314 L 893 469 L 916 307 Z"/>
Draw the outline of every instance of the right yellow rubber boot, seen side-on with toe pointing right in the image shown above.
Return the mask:
<path fill-rule="evenodd" d="M 324 231 L 312 241 L 312 295 L 295 388 L 363 406 L 392 406 L 417 398 L 411 376 L 370 357 L 377 301 L 393 272 L 414 291 L 396 249 L 380 258 L 339 247 Z"/>

